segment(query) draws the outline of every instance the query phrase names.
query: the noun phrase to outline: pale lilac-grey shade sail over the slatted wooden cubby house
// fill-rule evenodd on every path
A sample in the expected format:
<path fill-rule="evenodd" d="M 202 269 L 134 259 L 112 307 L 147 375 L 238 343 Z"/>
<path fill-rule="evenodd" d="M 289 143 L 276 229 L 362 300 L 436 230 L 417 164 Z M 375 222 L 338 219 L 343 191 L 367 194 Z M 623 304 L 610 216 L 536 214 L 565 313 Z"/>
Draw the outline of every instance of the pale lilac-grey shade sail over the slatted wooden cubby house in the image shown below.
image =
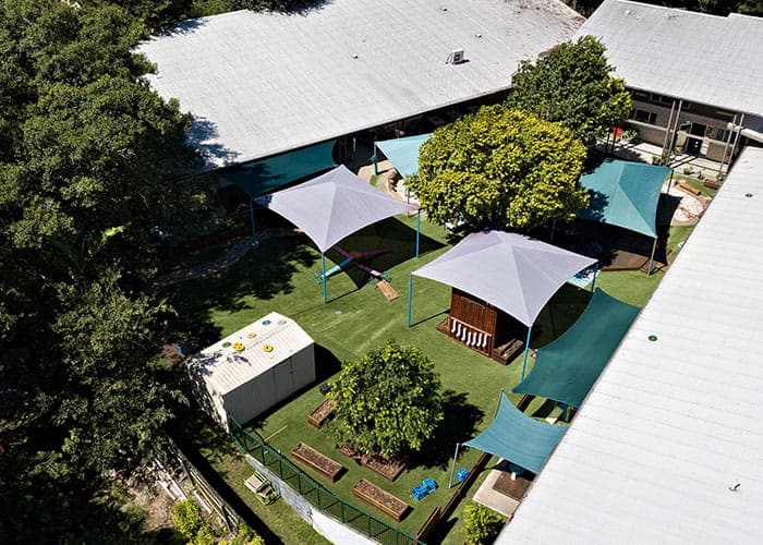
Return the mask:
<path fill-rule="evenodd" d="M 596 259 L 502 231 L 472 233 L 413 275 L 465 291 L 532 326 L 548 300 Z"/>

